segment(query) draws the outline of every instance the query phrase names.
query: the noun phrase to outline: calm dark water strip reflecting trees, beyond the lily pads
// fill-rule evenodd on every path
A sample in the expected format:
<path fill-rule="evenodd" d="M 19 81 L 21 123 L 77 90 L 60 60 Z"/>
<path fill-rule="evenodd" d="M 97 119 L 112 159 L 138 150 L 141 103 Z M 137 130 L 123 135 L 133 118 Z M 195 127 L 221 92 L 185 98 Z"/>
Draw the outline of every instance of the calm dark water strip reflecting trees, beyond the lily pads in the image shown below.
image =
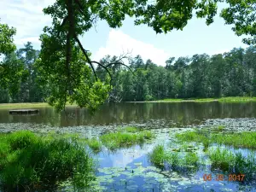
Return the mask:
<path fill-rule="evenodd" d="M 90 115 L 87 110 L 70 107 L 66 113 L 55 114 L 53 108 L 39 108 L 38 115 L 9 115 L 0 108 L 0 123 L 38 123 L 54 126 L 113 125 L 148 123 L 160 120 L 163 124 L 183 126 L 205 119 L 256 118 L 256 102 L 182 102 L 182 103 L 117 103 L 102 106 Z"/>

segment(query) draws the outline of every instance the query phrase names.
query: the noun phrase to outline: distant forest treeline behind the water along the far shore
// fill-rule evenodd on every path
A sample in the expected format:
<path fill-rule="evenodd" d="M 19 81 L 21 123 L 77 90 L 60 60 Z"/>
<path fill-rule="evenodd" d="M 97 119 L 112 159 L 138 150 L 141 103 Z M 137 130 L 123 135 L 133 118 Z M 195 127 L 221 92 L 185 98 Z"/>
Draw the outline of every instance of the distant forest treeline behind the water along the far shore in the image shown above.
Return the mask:
<path fill-rule="evenodd" d="M 39 52 L 28 42 L 24 48 L 5 56 L 3 63 L 23 67 L 26 74 L 20 84 L 13 87 L 10 80 L 9 87 L 15 90 L 15 94 L 10 95 L 8 90 L 0 88 L 0 102 L 45 102 L 49 87 L 42 86 L 38 78 L 36 62 Z M 106 66 L 117 59 L 117 56 L 106 55 L 100 63 Z M 165 67 L 151 60 L 143 61 L 140 55 L 131 58 L 129 64 L 133 73 L 121 65 L 110 67 L 113 90 L 109 101 L 256 96 L 256 46 L 234 48 L 212 56 L 170 57 Z M 109 78 L 107 71 L 100 66 L 96 68 L 96 74 L 102 81 Z"/>

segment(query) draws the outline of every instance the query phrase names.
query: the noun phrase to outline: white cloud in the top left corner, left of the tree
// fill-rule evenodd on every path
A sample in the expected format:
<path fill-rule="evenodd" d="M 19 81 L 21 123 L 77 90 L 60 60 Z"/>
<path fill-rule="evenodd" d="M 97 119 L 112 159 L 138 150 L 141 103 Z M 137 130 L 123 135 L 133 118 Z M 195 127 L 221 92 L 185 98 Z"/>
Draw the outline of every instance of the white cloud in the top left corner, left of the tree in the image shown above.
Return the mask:
<path fill-rule="evenodd" d="M 43 9 L 54 2 L 54 0 L 1 0 L 1 23 L 7 23 L 17 29 L 15 35 L 17 45 L 31 41 L 39 46 L 38 36 L 43 32 L 44 26 L 51 23 L 51 18 L 49 15 L 44 15 Z"/>

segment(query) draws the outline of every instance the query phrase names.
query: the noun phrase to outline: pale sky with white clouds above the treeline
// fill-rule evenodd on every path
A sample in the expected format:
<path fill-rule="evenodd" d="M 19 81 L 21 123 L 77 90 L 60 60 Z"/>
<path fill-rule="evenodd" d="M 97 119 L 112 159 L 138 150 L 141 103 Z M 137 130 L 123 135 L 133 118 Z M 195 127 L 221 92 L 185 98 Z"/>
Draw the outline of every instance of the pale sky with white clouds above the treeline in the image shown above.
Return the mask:
<path fill-rule="evenodd" d="M 27 41 L 32 42 L 35 49 L 40 49 L 39 36 L 44 26 L 51 25 L 49 15 L 43 9 L 54 0 L 0 0 L 0 22 L 17 29 L 15 44 L 21 48 Z M 220 8 L 223 5 L 220 6 Z M 141 55 L 143 60 L 165 66 L 168 58 L 174 56 L 192 56 L 207 53 L 214 55 L 230 51 L 233 48 L 246 48 L 241 37 L 237 37 L 231 26 L 224 25 L 218 15 L 211 26 L 204 19 L 193 18 L 183 31 L 172 31 L 167 34 L 156 34 L 146 25 L 134 26 L 133 18 L 127 17 L 123 26 L 113 29 L 104 20 L 96 27 L 84 33 L 80 38 L 84 49 L 89 49 L 92 58 L 99 61 L 105 55 L 131 56 Z"/>

